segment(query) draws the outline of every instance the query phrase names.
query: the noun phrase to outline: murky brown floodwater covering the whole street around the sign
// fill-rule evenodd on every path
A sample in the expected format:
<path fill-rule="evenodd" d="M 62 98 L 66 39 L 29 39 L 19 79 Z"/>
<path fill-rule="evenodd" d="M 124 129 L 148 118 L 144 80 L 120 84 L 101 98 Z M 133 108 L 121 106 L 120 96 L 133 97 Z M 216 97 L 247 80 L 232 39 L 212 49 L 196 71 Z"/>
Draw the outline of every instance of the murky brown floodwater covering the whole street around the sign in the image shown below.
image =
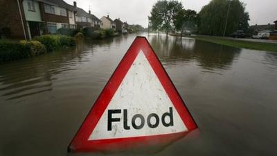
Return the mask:
<path fill-rule="evenodd" d="M 277 155 L 277 53 L 142 35 L 199 129 L 157 153 L 112 155 Z M 0 155 L 75 155 L 69 142 L 135 37 L 0 64 Z"/>

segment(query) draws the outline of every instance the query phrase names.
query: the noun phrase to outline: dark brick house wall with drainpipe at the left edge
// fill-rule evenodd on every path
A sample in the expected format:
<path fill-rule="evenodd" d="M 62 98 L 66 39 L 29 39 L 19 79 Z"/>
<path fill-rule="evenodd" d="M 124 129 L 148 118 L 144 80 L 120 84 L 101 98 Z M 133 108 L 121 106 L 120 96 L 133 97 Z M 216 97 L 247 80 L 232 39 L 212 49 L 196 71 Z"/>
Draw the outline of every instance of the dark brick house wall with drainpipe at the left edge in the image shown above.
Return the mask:
<path fill-rule="evenodd" d="M 24 27 L 27 32 L 26 20 L 21 2 L 22 0 L 19 0 Z M 22 27 L 17 0 L 0 0 L 0 19 L 0 30 L 2 30 L 2 28 L 10 28 L 10 37 L 24 39 L 24 30 Z M 27 33 L 26 35 L 28 38 Z"/>

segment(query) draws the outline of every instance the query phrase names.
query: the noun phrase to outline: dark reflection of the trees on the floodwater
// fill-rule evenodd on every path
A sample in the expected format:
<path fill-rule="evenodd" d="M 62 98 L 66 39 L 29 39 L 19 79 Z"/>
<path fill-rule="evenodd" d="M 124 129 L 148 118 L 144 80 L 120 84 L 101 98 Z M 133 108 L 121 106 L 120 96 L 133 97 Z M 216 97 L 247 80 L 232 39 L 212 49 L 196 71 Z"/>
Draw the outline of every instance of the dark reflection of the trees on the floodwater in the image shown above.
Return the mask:
<path fill-rule="evenodd" d="M 183 37 L 150 35 L 150 44 L 159 58 L 168 64 L 198 62 L 203 69 L 229 69 L 240 55 L 241 49 Z"/>

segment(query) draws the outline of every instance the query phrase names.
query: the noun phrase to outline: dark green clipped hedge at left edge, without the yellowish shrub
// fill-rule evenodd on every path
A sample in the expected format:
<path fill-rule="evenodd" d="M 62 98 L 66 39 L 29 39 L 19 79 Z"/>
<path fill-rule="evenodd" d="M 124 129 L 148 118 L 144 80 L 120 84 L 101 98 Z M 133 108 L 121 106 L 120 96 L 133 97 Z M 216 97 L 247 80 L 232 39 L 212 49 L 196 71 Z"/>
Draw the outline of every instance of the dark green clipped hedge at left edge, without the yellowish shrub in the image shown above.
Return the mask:
<path fill-rule="evenodd" d="M 8 40 L 0 41 L 0 62 L 30 57 L 30 46 Z"/>

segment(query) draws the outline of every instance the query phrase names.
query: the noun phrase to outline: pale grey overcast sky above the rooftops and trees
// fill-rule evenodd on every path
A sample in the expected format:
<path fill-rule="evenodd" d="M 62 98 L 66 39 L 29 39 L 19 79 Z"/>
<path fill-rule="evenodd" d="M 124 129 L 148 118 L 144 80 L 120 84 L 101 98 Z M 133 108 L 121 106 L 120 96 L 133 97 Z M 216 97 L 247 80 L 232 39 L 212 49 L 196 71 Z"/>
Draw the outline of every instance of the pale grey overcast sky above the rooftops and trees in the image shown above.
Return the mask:
<path fill-rule="evenodd" d="M 141 24 L 148 26 L 148 15 L 157 0 L 64 0 L 73 5 L 77 1 L 77 6 L 88 12 L 89 6 L 91 13 L 99 19 L 107 16 L 111 19 L 120 18 L 128 24 Z M 202 6 L 211 0 L 182 0 L 184 8 L 199 12 Z M 247 3 L 246 10 L 249 12 L 253 24 L 273 24 L 277 20 L 277 0 L 241 0 Z"/>

